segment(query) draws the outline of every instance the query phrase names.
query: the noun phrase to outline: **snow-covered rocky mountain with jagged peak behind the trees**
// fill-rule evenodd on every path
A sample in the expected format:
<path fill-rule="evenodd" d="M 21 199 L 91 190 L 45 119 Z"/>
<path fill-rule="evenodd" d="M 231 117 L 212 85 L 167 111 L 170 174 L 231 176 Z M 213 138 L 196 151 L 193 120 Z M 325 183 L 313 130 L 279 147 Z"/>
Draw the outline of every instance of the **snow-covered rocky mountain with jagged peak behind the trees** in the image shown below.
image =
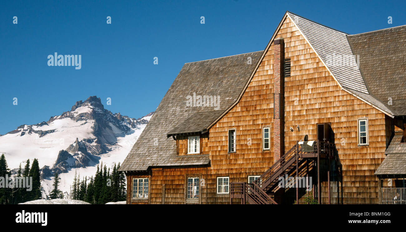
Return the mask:
<path fill-rule="evenodd" d="M 113 114 L 100 98 L 89 97 L 47 122 L 21 125 L 0 136 L 0 154 L 12 172 L 37 158 L 44 198 L 52 190 L 55 172 L 61 178 L 59 189 L 69 193 L 75 170 L 81 178 L 90 178 L 101 162 L 110 168 L 123 162 L 152 115 L 135 119 Z"/>

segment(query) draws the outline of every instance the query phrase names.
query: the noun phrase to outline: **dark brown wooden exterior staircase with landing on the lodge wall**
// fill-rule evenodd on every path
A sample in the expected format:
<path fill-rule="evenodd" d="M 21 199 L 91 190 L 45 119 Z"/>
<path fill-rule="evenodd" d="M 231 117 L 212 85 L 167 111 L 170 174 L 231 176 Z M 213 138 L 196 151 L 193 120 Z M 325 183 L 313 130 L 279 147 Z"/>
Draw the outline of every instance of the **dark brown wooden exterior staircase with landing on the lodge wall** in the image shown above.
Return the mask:
<path fill-rule="evenodd" d="M 314 150 L 304 152 L 302 145 L 290 148 L 285 155 L 276 161 L 266 172 L 264 172 L 255 182 L 233 182 L 230 183 L 230 204 L 233 199 L 241 199 L 241 204 L 277 204 L 272 198 L 275 190 L 279 189 L 279 177 L 293 176 L 296 173 L 304 172 L 305 162 L 313 163 L 320 158 L 332 159 L 335 155 L 335 144 L 315 140 Z M 301 169 L 302 167 L 302 169 Z"/>

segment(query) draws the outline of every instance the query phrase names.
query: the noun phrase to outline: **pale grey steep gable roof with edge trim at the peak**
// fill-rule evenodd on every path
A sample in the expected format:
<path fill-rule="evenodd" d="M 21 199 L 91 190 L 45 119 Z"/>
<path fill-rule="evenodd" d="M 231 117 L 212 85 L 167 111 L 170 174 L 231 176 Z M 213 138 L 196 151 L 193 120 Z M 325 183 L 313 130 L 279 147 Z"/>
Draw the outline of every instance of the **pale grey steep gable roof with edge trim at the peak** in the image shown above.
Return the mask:
<path fill-rule="evenodd" d="M 377 97 L 369 92 L 367 85 L 365 84 L 365 80 L 361 75 L 361 71 L 359 70 L 356 63 L 350 63 L 349 66 L 346 65 L 332 65 L 334 62 L 328 62 L 331 56 L 353 56 L 350 43 L 347 39 L 347 34 L 341 32 L 339 30 L 335 30 L 333 28 L 329 28 L 322 24 L 316 23 L 289 11 L 286 11 L 285 15 L 283 16 L 281 22 L 279 23 L 278 27 L 276 28 L 272 38 L 270 39 L 268 45 L 266 46 L 263 54 L 259 58 L 257 66 L 251 73 L 251 77 L 248 79 L 243 91 L 240 93 L 237 101 L 233 103 L 225 112 L 220 114 L 216 120 L 214 120 L 208 127 L 212 127 L 218 120 L 220 120 L 227 112 L 229 112 L 237 103 L 240 101 L 242 95 L 244 94 L 248 84 L 251 82 L 255 72 L 257 71 L 259 64 L 263 60 L 266 52 L 268 52 L 270 46 L 272 45 L 276 34 L 278 33 L 279 29 L 282 27 L 283 22 L 285 19 L 289 17 L 292 22 L 296 25 L 298 30 L 302 33 L 302 36 L 309 45 L 313 48 L 314 52 L 320 58 L 322 63 L 326 66 L 327 70 L 333 76 L 337 84 L 341 87 L 342 90 L 348 92 L 349 94 L 353 95 L 354 97 L 360 99 L 361 101 L 371 105 L 372 107 L 380 110 L 384 114 L 388 116 L 394 117 L 394 114 L 389 108 L 382 103 Z"/>

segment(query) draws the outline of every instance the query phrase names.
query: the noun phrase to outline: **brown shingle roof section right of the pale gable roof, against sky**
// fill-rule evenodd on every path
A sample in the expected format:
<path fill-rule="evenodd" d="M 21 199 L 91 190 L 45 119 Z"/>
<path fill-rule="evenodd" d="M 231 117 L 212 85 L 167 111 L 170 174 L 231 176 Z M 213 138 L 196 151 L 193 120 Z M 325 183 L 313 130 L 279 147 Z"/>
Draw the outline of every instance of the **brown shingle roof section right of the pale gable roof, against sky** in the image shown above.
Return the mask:
<path fill-rule="evenodd" d="M 354 54 L 373 95 L 395 115 L 406 115 L 406 25 L 348 35 Z"/>

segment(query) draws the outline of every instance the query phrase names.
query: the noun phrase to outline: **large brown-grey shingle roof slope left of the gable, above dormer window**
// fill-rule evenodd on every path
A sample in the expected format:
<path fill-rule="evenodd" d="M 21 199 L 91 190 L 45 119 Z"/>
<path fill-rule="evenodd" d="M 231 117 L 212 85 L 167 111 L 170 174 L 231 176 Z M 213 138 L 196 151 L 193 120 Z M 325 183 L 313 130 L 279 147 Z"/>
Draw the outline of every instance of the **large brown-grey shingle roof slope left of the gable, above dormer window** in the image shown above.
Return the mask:
<path fill-rule="evenodd" d="M 184 64 L 143 133 L 120 166 L 120 171 L 149 167 L 208 165 L 208 155 L 176 155 L 169 134 L 199 132 L 213 122 L 242 92 L 263 51 Z M 248 57 L 252 63 L 247 64 Z M 187 106 L 187 96 L 219 96 L 218 108 Z"/>

